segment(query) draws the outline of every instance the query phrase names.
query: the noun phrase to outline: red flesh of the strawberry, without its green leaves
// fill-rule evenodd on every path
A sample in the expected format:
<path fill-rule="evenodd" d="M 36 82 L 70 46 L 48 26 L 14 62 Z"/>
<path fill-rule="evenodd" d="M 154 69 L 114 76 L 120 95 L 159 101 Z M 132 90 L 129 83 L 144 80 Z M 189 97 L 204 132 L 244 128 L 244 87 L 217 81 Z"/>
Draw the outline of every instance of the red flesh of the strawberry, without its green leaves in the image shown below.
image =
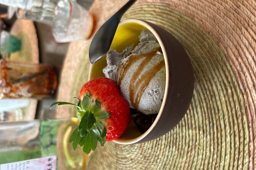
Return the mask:
<path fill-rule="evenodd" d="M 107 130 L 106 141 L 119 138 L 126 130 L 130 122 L 129 104 L 121 96 L 117 83 L 106 77 L 90 80 L 83 85 L 80 91 L 80 100 L 90 91 L 91 100 L 99 99 L 101 109 L 111 113 L 111 116 L 101 120 Z"/>

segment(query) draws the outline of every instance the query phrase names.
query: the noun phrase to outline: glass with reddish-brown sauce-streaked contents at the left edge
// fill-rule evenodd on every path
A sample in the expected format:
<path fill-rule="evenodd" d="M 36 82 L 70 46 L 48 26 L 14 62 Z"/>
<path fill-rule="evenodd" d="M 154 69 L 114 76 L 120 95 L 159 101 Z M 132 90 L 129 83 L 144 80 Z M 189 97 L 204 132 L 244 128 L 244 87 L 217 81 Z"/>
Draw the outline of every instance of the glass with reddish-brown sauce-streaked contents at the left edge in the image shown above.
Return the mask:
<path fill-rule="evenodd" d="M 0 60 L 0 99 L 42 99 L 52 95 L 56 87 L 52 66 Z"/>

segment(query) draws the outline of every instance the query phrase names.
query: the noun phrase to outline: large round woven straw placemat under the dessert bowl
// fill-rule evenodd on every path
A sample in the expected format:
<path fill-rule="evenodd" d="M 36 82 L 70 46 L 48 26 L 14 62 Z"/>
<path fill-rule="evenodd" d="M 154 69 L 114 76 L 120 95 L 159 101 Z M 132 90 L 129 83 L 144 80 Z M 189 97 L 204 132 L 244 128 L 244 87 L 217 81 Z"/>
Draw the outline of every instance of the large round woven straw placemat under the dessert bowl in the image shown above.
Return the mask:
<path fill-rule="evenodd" d="M 91 12 L 97 27 L 125 2 L 96 0 Z M 138 0 L 122 19 L 155 23 L 183 44 L 194 69 L 192 102 L 171 132 L 142 144 L 107 142 L 93 153 L 89 169 L 256 169 L 255 6 L 231 0 Z M 73 101 L 88 80 L 90 40 L 70 44 L 61 101 Z M 73 110 L 58 107 L 58 117 L 74 115 Z"/>

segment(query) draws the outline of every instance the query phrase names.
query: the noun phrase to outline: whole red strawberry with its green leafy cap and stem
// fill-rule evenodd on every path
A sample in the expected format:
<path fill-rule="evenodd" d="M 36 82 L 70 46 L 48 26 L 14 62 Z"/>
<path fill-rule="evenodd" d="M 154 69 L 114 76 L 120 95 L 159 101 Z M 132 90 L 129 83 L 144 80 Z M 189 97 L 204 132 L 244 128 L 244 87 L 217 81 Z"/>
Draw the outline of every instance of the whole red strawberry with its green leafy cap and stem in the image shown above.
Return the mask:
<path fill-rule="evenodd" d="M 55 102 L 51 106 L 72 104 L 76 106 L 80 124 L 73 131 L 69 142 L 75 150 L 83 147 L 85 153 L 95 150 L 97 142 L 119 138 L 130 122 L 129 104 L 121 96 L 117 83 L 106 77 L 99 77 L 85 83 L 80 90 L 77 104 Z"/>

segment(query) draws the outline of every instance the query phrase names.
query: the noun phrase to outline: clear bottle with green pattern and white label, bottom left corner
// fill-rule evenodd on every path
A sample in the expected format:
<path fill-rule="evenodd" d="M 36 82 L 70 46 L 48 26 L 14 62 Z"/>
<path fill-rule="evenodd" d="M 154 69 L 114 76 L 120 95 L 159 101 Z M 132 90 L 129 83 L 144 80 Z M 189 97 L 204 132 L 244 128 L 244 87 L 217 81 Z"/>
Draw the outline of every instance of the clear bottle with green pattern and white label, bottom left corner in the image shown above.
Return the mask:
<path fill-rule="evenodd" d="M 88 155 L 68 143 L 77 125 L 77 118 L 0 123 L 0 169 L 84 169 Z"/>

